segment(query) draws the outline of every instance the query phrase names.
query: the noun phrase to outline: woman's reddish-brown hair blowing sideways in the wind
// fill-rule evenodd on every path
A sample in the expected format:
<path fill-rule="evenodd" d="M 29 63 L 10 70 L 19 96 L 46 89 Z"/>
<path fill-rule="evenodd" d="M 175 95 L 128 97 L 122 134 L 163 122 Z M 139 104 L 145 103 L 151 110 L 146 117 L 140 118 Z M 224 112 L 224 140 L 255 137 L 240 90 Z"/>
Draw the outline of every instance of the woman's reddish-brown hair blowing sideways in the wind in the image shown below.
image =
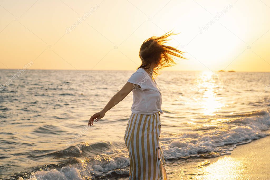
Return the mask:
<path fill-rule="evenodd" d="M 168 43 L 166 42 L 169 40 L 167 38 L 171 35 L 176 34 L 168 32 L 160 37 L 153 36 L 143 42 L 139 53 L 141 65 L 138 69 L 141 67 L 148 69 L 152 63 L 155 63 L 156 67 L 153 69 L 153 74 L 157 76 L 157 70 L 176 64 L 172 56 L 185 59 L 185 57 L 183 57 L 184 52 L 174 47 L 164 45 Z"/>

